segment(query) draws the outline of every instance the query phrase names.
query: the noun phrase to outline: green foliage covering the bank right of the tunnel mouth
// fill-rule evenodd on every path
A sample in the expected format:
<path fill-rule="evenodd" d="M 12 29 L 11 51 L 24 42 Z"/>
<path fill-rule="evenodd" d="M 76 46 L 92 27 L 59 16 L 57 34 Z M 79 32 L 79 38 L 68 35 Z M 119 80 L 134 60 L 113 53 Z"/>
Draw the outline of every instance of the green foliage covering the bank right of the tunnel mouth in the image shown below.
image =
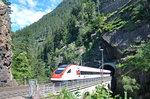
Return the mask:
<path fill-rule="evenodd" d="M 138 95 L 137 90 L 138 93 L 144 94 L 149 89 L 149 78 L 145 75 L 149 75 L 150 70 L 150 41 L 131 47 L 137 48 L 137 53 L 125 57 L 122 63 L 118 64 L 117 68 L 121 68 L 123 71 L 118 85 L 123 86 L 123 89 L 129 92 L 132 97 L 136 97 Z M 143 76 L 144 78 L 141 78 Z M 139 81 L 139 78 L 144 80 Z"/>

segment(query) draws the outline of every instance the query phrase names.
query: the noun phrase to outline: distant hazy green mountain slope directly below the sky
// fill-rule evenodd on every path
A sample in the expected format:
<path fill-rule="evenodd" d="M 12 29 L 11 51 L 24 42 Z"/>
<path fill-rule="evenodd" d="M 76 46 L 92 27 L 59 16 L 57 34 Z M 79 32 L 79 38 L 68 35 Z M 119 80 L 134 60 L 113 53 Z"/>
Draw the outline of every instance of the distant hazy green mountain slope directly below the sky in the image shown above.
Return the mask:
<path fill-rule="evenodd" d="M 52 12 L 44 15 L 39 21 L 16 33 L 21 35 L 22 31 L 28 30 L 36 40 L 40 39 L 41 36 L 46 36 L 48 31 L 53 32 L 56 28 L 64 24 L 75 2 L 76 0 L 63 0 Z"/>

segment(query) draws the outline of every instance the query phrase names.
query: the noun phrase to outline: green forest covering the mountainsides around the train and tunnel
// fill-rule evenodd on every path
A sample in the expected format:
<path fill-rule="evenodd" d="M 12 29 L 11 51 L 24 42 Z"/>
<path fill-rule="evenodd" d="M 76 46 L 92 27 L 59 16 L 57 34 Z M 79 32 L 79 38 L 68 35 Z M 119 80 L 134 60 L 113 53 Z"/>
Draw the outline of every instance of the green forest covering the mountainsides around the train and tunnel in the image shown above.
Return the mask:
<path fill-rule="evenodd" d="M 14 79 L 21 83 L 27 76 L 28 80 L 47 81 L 60 64 L 84 61 L 86 66 L 95 66 L 93 60 L 101 59 L 95 56 L 98 42 L 105 33 L 123 28 L 134 31 L 150 22 L 150 0 L 137 0 L 108 14 L 101 12 L 101 4 L 99 0 L 63 0 L 38 22 L 12 32 Z M 116 59 L 117 70 L 122 71 L 117 78 L 117 86 L 122 87 L 116 93 L 127 91 L 136 98 L 150 92 L 150 41 L 130 46 L 136 49 L 135 54 Z M 129 49 L 120 50 L 124 51 Z M 144 82 L 139 75 L 146 75 Z"/>

